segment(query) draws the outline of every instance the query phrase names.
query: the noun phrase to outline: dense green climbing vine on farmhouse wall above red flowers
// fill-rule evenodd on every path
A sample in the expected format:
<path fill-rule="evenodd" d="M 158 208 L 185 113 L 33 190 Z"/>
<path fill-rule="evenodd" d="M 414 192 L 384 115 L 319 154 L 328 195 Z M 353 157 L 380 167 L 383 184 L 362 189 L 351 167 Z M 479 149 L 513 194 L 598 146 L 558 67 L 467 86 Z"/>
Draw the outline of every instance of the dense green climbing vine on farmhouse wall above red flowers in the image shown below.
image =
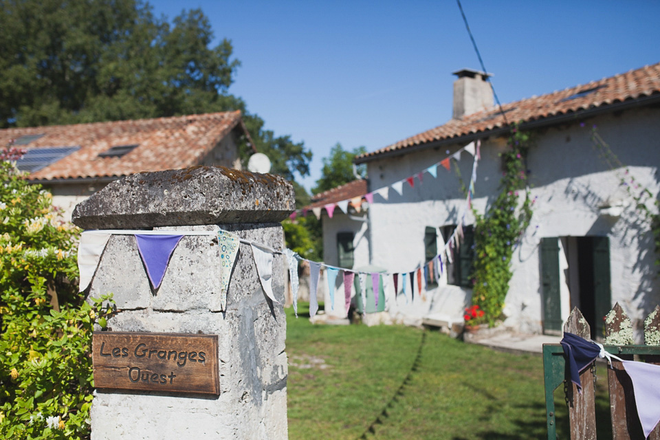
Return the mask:
<path fill-rule="evenodd" d="M 511 258 L 529 225 L 533 200 L 527 189 L 525 157 L 531 144 L 529 132 L 514 125 L 505 152 L 501 192 L 484 214 L 474 211 L 474 288 L 472 304 L 484 314 L 478 322 L 494 325 L 502 316 L 504 299 L 511 280 Z"/>

